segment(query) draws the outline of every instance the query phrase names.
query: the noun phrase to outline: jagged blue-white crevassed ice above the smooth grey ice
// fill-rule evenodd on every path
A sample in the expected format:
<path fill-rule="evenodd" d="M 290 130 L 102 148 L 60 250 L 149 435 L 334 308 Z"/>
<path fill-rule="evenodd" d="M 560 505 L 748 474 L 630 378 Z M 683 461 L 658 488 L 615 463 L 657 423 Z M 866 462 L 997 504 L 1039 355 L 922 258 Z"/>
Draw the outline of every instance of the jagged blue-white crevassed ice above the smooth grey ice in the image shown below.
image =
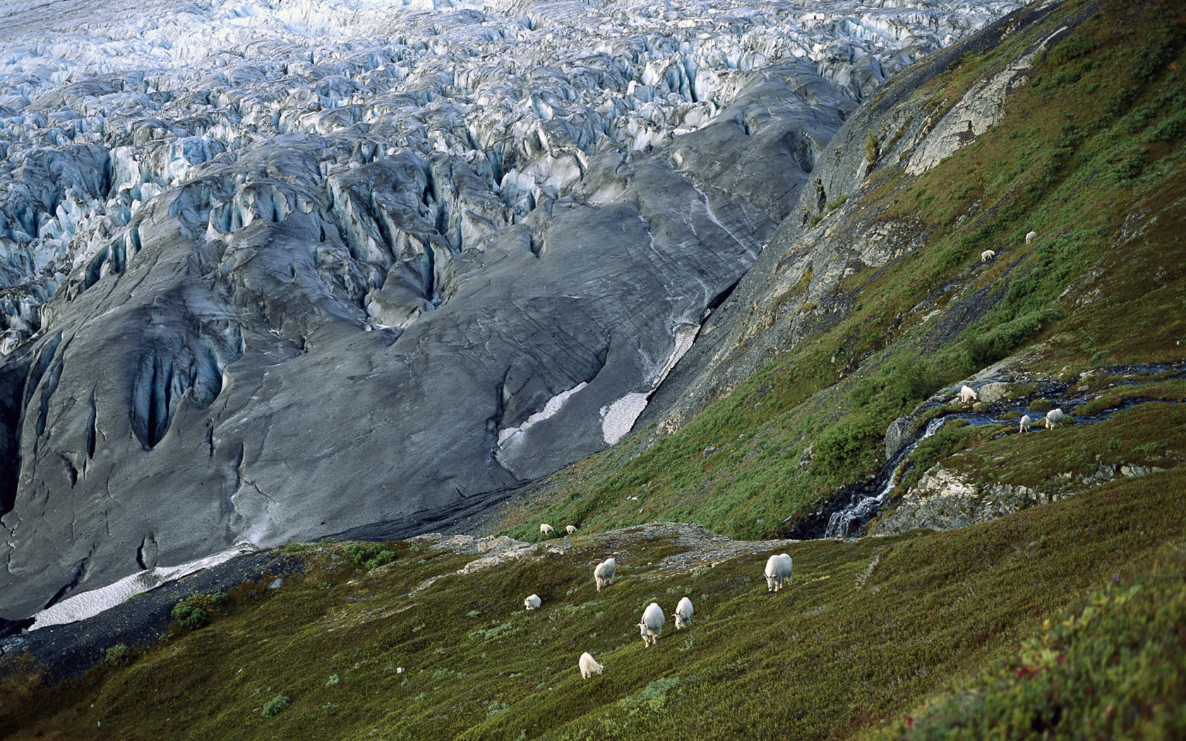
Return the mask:
<path fill-rule="evenodd" d="M 113 243 L 134 239 L 119 232 L 144 200 L 259 138 L 352 142 L 327 172 L 447 152 L 514 219 L 566 192 L 604 139 L 643 148 L 700 128 L 739 72 L 802 59 L 861 97 L 1021 4 L 71 5 L 0 11 L 0 353 L 71 269 L 138 249 Z M 441 225 L 454 245 L 480 230 L 457 221 Z"/>

